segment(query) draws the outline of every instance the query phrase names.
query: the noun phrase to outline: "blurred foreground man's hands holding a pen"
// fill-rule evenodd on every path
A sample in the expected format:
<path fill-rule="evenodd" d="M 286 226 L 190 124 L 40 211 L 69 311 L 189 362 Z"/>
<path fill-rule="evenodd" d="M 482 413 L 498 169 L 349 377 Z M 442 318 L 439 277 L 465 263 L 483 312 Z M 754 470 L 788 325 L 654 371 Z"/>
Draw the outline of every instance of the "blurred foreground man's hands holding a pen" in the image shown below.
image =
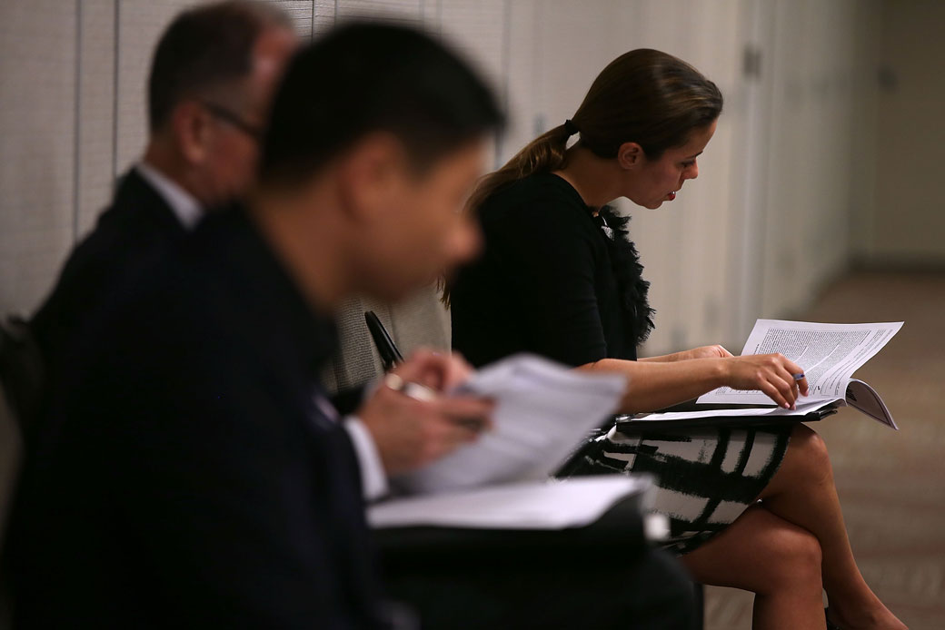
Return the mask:
<path fill-rule="evenodd" d="M 419 350 L 384 377 L 357 416 L 388 475 L 420 468 L 490 430 L 491 400 L 443 395 L 471 374 L 458 355 Z"/>

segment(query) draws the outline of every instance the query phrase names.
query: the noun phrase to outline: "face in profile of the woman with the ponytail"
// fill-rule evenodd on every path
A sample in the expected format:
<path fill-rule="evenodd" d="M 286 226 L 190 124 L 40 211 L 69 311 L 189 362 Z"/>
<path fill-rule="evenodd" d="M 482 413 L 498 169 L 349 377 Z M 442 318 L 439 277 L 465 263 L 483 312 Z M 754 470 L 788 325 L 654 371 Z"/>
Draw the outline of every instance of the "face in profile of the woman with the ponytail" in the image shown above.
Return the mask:
<path fill-rule="evenodd" d="M 712 140 L 716 123 L 713 121 L 708 127 L 696 128 L 685 145 L 666 149 L 657 160 L 644 157 L 640 167 L 631 172 L 627 198 L 650 210 L 656 210 L 664 201 L 675 199 L 686 179 L 698 177 L 696 159 Z"/>

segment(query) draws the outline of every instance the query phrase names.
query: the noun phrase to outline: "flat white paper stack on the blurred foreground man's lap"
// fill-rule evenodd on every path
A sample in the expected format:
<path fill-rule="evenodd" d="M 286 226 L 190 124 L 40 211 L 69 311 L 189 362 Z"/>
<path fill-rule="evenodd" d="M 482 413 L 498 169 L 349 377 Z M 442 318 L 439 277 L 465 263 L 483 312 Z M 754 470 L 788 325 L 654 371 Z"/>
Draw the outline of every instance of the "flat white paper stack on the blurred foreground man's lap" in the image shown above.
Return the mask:
<path fill-rule="evenodd" d="M 546 480 L 445 494 L 391 499 L 368 509 L 371 527 L 548 529 L 583 527 L 628 495 L 651 486 L 647 477 L 600 475 Z"/>

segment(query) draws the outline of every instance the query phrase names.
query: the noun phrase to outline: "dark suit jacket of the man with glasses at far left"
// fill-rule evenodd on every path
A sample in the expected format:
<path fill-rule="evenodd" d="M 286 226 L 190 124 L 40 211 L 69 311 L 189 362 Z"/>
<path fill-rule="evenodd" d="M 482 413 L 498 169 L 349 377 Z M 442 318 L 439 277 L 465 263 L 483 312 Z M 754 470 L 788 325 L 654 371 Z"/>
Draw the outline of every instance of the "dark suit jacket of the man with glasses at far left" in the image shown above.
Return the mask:
<path fill-rule="evenodd" d="M 30 326 L 47 362 L 75 338 L 82 320 L 122 279 L 180 247 L 186 230 L 146 179 L 131 169 L 112 205 L 62 267 L 59 281 Z"/>

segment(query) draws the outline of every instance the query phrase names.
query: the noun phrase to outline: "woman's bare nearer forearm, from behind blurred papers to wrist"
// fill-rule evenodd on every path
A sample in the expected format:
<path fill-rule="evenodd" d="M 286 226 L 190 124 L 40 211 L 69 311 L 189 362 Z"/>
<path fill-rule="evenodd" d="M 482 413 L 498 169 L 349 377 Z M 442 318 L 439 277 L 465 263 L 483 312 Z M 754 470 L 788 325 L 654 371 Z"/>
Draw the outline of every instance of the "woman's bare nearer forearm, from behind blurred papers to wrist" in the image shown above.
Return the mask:
<path fill-rule="evenodd" d="M 626 374 L 627 391 L 620 406 L 620 413 L 624 414 L 664 409 L 725 384 L 725 366 L 719 359 L 666 362 L 602 359 L 577 369 Z"/>

